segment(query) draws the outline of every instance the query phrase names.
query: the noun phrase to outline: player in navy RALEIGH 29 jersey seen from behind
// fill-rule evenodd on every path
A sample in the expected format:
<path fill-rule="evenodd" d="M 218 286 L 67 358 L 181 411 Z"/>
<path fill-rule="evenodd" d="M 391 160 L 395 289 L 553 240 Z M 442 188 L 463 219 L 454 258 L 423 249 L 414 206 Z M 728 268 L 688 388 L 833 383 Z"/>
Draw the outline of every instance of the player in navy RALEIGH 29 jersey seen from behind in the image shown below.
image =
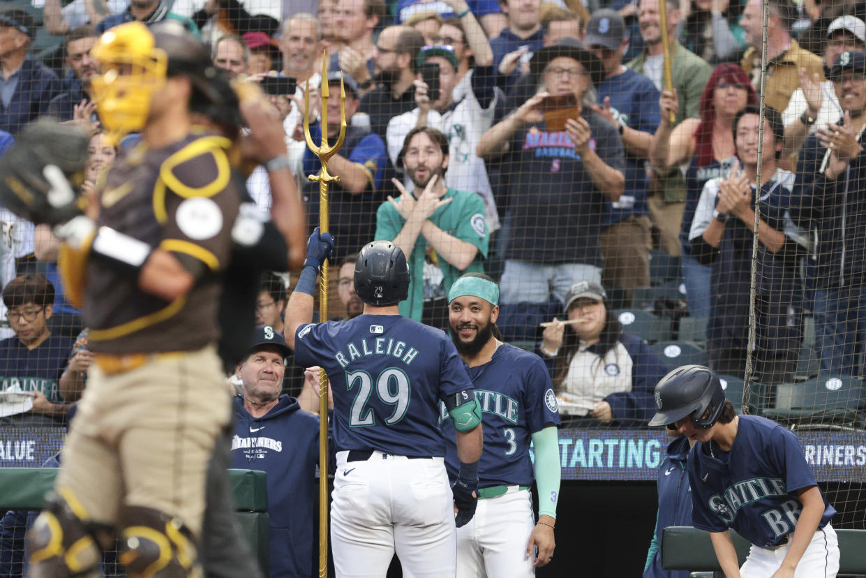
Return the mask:
<path fill-rule="evenodd" d="M 455 526 L 475 513 L 481 410 L 460 355 L 442 331 L 399 315 L 409 266 L 396 244 L 365 245 L 355 265 L 364 313 L 310 323 L 313 290 L 333 241 L 318 228 L 286 309 L 288 346 L 324 367 L 333 391 L 337 451 L 331 507 L 337 575 L 385 575 L 395 551 L 406 575 L 453 576 Z M 449 490 L 442 400 L 456 430 L 457 479 Z M 456 520 L 454 512 L 457 511 Z"/>

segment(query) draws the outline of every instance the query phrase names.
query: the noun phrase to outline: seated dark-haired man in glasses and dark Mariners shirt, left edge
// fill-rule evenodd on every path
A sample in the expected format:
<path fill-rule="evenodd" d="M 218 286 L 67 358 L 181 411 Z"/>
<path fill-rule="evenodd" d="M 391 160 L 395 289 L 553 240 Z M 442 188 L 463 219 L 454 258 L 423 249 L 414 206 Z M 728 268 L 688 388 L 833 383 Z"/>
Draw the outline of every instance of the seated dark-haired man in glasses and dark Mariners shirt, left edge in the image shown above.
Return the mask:
<path fill-rule="evenodd" d="M 68 410 L 58 382 L 74 340 L 51 334 L 54 300 L 54 286 L 41 275 L 16 277 L 3 288 L 15 337 L 0 341 L 0 424 L 56 425 Z"/>

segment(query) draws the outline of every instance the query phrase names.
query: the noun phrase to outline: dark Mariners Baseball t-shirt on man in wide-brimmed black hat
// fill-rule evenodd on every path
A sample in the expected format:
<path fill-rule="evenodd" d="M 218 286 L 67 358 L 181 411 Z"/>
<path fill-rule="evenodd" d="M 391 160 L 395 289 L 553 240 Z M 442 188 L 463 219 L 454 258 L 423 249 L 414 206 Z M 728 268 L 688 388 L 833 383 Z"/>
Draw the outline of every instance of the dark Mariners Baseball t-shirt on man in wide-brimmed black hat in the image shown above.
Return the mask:
<path fill-rule="evenodd" d="M 581 116 L 592 133 L 590 148 L 622 172 L 623 141 L 617 129 L 588 108 Z M 505 257 L 601 267 L 598 235 L 608 200 L 593 184 L 568 133 L 550 131 L 541 122 L 515 133 L 511 151 L 503 161 L 503 166 L 513 163 L 508 207 L 514 225 Z"/>

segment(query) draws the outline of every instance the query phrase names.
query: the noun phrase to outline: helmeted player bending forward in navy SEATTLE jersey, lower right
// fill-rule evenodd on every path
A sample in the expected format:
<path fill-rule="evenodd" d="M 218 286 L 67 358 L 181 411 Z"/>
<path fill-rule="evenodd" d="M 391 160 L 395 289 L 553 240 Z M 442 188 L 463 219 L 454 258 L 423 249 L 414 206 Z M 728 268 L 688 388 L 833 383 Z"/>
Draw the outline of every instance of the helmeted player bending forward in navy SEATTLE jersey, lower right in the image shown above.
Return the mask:
<path fill-rule="evenodd" d="M 656 385 L 667 425 L 695 440 L 688 453 L 692 524 L 710 532 L 727 578 L 831 578 L 839 544 L 836 510 L 818 488 L 796 436 L 776 422 L 737 415 L 711 369 L 683 366 Z M 752 542 L 738 568 L 728 529 Z"/>

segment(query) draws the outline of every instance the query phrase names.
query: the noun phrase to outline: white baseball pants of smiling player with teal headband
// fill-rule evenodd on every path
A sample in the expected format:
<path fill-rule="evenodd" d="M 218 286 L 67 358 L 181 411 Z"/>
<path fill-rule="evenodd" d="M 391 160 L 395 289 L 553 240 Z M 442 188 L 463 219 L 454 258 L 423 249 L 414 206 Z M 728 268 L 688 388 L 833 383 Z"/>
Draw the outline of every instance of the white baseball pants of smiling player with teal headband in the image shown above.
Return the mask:
<path fill-rule="evenodd" d="M 526 578 L 535 575 L 527 543 L 535 528 L 529 490 L 509 486 L 502 496 L 478 500 L 475 516 L 457 529 L 457 578 Z"/>

